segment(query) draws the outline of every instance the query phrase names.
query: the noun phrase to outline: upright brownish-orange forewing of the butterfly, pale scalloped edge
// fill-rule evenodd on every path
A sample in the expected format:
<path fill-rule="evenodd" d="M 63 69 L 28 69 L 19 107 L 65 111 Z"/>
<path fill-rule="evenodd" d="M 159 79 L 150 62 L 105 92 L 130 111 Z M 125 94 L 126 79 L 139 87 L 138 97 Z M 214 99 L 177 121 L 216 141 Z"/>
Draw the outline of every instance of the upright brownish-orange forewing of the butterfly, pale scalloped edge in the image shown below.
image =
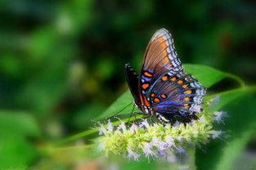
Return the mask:
<path fill-rule="evenodd" d="M 182 70 L 181 61 L 177 58 L 172 35 L 166 29 L 159 29 L 146 47 L 141 69 L 142 94 L 146 96 L 150 87 L 170 70 Z"/>

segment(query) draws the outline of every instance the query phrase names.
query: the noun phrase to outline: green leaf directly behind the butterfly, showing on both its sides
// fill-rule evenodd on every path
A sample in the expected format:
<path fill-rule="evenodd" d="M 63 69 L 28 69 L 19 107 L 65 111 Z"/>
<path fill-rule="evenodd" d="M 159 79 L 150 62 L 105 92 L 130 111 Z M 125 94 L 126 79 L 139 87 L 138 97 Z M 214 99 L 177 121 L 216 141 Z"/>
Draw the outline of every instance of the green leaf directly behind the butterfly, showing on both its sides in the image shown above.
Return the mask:
<path fill-rule="evenodd" d="M 218 81 L 226 77 L 226 74 L 222 71 L 213 69 L 206 65 L 184 65 L 184 67 L 188 73 L 192 74 L 195 78 L 198 78 L 200 83 L 203 83 L 205 87 L 211 87 L 214 83 L 218 83 Z M 124 92 L 123 95 L 119 96 L 119 98 L 112 105 L 110 105 L 109 109 L 101 114 L 99 119 L 109 118 L 110 116 L 124 109 L 124 107 L 129 105 L 132 101 L 133 97 L 131 92 L 129 92 L 129 90 Z M 129 105 L 119 114 L 130 114 L 132 112 L 132 107 L 133 105 Z"/>

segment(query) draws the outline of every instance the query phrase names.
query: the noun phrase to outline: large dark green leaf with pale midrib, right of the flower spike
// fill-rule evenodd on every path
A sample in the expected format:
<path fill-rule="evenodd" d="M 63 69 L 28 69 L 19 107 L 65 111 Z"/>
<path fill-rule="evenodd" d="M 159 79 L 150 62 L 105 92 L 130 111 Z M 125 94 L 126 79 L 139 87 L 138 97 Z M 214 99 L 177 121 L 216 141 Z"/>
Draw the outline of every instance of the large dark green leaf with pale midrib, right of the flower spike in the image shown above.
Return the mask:
<path fill-rule="evenodd" d="M 225 125 L 216 128 L 225 131 L 228 136 L 224 141 L 212 141 L 207 145 L 207 152 L 196 150 L 195 164 L 198 169 L 234 169 L 234 160 L 255 132 L 256 99 L 250 93 L 255 87 L 245 87 L 220 94 L 219 104 L 214 110 L 227 111 L 229 118 Z M 228 104 L 228 105 L 227 105 Z M 226 105 L 226 106 L 225 106 Z"/>

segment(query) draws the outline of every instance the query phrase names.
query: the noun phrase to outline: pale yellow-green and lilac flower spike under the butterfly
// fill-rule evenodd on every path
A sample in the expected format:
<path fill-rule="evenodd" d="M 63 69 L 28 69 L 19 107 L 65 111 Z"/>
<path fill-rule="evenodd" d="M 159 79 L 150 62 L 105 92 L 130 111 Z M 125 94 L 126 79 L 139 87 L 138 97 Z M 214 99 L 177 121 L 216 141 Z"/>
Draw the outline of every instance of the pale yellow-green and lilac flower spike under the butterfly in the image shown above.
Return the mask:
<path fill-rule="evenodd" d="M 213 120 L 222 122 L 219 112 L 213 114 Z M 98 141 L 100 149 L 106 155 L 124 155 L 128 159 L 138 160 L 140 157 L 164 158 L 174 161 L 175 155 L 185 153 L 186 147 L 200 146 L 209 142 L 209 139 L 222 135 L 222 131 L 214 131 L 212 120 L 201 115 L 191 123 L 148 123 L 142 119 L 140 123 L 128 126 L 121 122 L 113 126 L 108 121 L 101 124 Z"/>

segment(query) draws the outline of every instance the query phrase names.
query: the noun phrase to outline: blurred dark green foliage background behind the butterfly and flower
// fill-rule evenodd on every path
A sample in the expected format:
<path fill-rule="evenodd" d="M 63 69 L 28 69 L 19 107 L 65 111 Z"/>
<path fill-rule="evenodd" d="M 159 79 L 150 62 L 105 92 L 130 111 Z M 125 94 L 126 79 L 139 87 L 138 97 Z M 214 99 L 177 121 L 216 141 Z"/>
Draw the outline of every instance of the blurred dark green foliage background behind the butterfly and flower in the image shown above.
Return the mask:
<path fill-rule="evenodd" d="M 255 15 L 250 0 L 2 0 L 0 164 L 75 167 L 43 158 L 37 146 L 92 127 L 127 89 L 124 63 L 138 70 L 162 27 L 173 34 L 182 63 L 256 83 Z M 248 150 L 256 150 L 254 141 Z"/>

